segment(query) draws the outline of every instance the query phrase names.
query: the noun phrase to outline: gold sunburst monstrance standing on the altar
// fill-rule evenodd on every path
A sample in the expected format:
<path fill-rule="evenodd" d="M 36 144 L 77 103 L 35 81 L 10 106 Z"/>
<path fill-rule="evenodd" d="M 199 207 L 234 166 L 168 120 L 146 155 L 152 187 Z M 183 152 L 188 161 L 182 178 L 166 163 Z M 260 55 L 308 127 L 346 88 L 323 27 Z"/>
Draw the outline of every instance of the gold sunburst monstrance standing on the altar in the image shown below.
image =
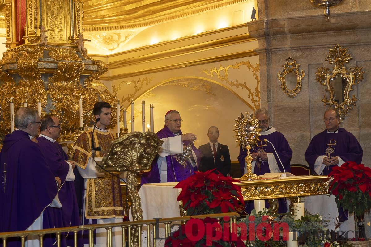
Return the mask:
<path fill-rule="evenodd" d="M 252 173 L 251 170 L 251 161 L 253 158 L 251 157 L 250 149 L 260 141 L 259 132 L 261 129 L 259 128 L 259 120 L 256 119 L 252 113 L 250 117 L 247 116 L 249 116 L 249 113 L 246 112 L 246 117 L 241 113 L 241 116 L 234 120 L 236 121 L 236 124 L 234 124 L 234 127 L 236 127 L 234 132 L 236 132 L 236 141 L 238 141 L 242 147 L 245 147 L 247 151 L 247 156 L 245 158 L 247 173 L 245 173 L 240 180 L 255 180 L 259 179 L 259 177 Z"/>

